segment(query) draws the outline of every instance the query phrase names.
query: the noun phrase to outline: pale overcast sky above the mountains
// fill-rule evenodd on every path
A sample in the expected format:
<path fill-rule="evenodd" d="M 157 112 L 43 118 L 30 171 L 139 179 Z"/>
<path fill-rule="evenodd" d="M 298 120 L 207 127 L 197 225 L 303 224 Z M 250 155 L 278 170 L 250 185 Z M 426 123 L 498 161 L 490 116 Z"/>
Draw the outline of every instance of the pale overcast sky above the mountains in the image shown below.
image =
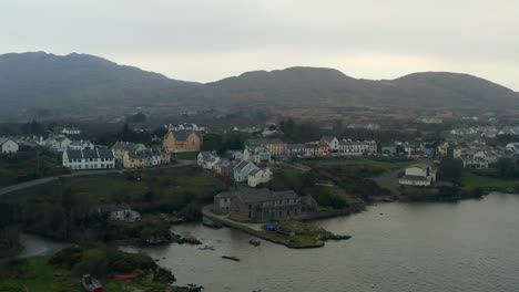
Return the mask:
<path fill-rule="evenodd" d="M 0 53 L 89 53 L 173 79 L 328 66 L 519 90 L 516 0 L 0 0 Z"/>

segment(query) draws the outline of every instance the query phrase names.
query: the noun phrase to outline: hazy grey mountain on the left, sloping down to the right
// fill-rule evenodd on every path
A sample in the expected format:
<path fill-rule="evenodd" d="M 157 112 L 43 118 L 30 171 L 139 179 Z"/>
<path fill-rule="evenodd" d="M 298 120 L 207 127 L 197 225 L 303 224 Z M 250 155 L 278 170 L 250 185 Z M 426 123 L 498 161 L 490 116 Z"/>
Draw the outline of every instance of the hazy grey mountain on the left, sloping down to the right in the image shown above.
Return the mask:
<path fill-rule="evenodd" d="M 12 108 L 74 111 L 91 106 L 154 103 L 176 87 L 193 83 L 88 54 L 34 53 L 0 55 L 0 114 Z"/>

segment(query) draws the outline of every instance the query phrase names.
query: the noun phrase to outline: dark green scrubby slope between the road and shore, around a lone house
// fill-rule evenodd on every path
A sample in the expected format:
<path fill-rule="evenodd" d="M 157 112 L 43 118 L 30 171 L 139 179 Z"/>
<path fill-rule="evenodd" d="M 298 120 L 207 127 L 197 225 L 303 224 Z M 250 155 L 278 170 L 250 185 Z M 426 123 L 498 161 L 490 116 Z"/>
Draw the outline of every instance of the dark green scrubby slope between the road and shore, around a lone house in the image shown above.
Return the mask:
<path fill-rule="evenodd" d="M 106 237 L 143 239 L 139 234 L 144 231 L 163 233 L 167 220 L 157 221 L 160 213 L 200 219 L 201 206 L 225 189 L 226 185 L 215 176 L 195 167 L 182 167 L 65 178 L 11 192 L 2 199 L 10 209 L 17 210 L 16 223 L 24 231 L 58 240 L 90 242 Z M 104 212 L 100 210 L 120 202 L 141 212 L 143 221 L 128 229 L 104 225 Z M 146 227 L 146 222 L 164 223 Z"/>

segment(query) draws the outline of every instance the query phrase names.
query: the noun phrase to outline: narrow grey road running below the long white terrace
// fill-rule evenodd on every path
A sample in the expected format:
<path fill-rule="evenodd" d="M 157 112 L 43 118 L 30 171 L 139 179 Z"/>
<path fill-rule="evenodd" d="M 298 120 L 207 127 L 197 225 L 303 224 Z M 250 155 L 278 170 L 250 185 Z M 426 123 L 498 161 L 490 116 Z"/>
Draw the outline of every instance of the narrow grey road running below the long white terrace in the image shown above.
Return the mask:
<path fill-rule="evenodd" d="M 159 166 L 153 168 L 146 168 L 146 170 L 157 170 L 157 169 L 165 169 L 165 168 L 177 168 L 184 167 L 190 165 L 195 165 L 195 160 L 177 160 L 177 164 L 174 165 L 166 165 L 166 166 Z M 69 177 L 85 177 L 85 176 L 102 176 L 102 175 L 112 175 L 112 174 L 124 174 L 124 173 L 133 173 L 140 171 L 142 169 L 103 169 L 103 170 L 83 170 L 83 171 L 73 171 L 71 174 L 61 175 L 61 176 L 53 176 L 53 177 L 44 177 L 40 179 L 34 179 L 26 182 L 20 182 L 17 185 L 8 186 L 4 188 L 0 188 L 0 196 L 7 195 L 12 191 L 30 188 L 33 186 L 43 185 L 50 181 L 58 180 L 59 178 L 69 178 Z"/>

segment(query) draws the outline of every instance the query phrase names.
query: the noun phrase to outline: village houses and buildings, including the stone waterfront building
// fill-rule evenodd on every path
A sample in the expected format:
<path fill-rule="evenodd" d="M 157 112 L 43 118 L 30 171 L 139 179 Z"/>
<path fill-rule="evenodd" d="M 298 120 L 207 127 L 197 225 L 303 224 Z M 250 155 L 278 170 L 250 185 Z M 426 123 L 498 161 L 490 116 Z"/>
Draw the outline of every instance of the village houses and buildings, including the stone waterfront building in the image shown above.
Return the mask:
<path fill-rule="evenodd" d="M 379 131 L 376 124 L 349 124 L 348 128 Z M 324 160 L 327 164 L 348 161 L 406 161 L 398 168 L 391 168 L 390 181 L 383 187 L 396 195 L 420 192 L 419 188 L 436 189 L 454 186 L 456 181 L 438 174 L 441 161 L 458 161 L 465 169 L 488 170 L 496 168 L 498 161 L 513 161 L 519 156 L 519 144 L 508 143 L 497 146 L 492 139 L 500 136 L 515 136 L 519 127 L 476 126 L 456 128 L 448 132 L 442 142 L 383 142 L 354 140 L 347 137 L 324 135 L 318 140 L 306 143 L 285 143 L 283 132 L 276 125 L 263 129 L 245 129 L 246 138 L 242 148 L 217 152 L 207 149 L 204 136 L 212 133 L 207 127 L 193 123 L 164 125 L 165 134 L 149 143 L 118 140 L 113 145 L 98 145 L 83 138 L 82 131 L 64 126 L 43 136 L 11 136 L 0 138 L 2 155 L 42 149 L 60 157 L 61 168 L 55 174 L 90 171 L 111 171 L 116 169 L 141 170 L 169 167 L 185 158 L 205 173 L 214 174 L 225 181 L 231 181 L 235 190 L 217 194 L 214 197 L 214 212 L 238 218 L 240 221 L 266 222 L 269 220 L 312 218 L 308 211 L 316 211 L 318 204 L 313 195 L 296 194 L 294 189 L 285 192 L 272 191 L 271 180 L 283 169 L 308 171 L 312 161 Z M 234 127 L 231 133 L 244 132 Z M 252 133 L 252 134 L 251 134 Z M 214 134 L 213 134 L 214 135 Z M 274 136 L 274 137 L 273 137 Z M 147 144 L 147 146 L 145 145 Z M 39 163 L 39 161 L 38 161 Z M 68 170 L 65 170 L 68 169 Z M 375 178 L 377 181 L 377 179 Z M 384 179 L 383 179 L 384 180 Z M 379 181 L 377 181 L 379 182 Z M 418 188 L 418 189 L 417 189 Z M 386 196 L 386 198 L 389 196 Z M 404 198 L 405 196 L 403 196 Z M 285 200 L 286 199 L 286 200 Z M 240 206 L 244 201 L 254 201 L 253 206 Z M 125 211 L 131 211 L 129 205 Z M 256 206 L 257 205 L 257 206 Z M 261 208 L 260 208 L 260 207 Z M 113 208 L 110 207 L 110 208 Z M 133 217 L 132 217 L 133 218 Z"/>

